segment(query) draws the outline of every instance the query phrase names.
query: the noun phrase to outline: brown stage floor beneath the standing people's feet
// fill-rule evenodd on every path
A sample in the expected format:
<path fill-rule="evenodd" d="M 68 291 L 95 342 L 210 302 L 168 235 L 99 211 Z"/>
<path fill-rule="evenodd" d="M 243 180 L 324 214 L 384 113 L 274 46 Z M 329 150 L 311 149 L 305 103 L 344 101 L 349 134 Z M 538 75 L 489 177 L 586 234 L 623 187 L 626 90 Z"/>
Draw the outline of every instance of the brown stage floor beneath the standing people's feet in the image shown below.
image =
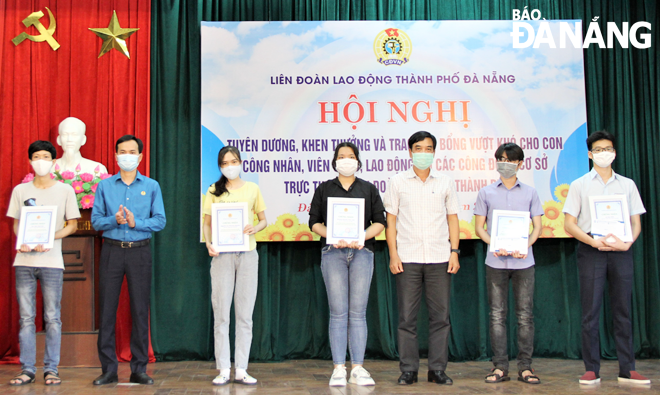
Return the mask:
<path fill-rule="evenodd" d="M 162 362 L 150 364 L 148 373 L 154 378 L 153 386 L 130 385 L 130 367 L 121 364 L 119 384 L 102 387 L 92 385 L 100 369 L 62 368 L 62 385 L 46 387 L 43 375 L 38 371 L 34 384 L 11 387 L 6 383 L 18 372 L 16 365 L 0 365 L 0 394 L 284 394 L 284 395 L 349 395 L 349 394 L 660 394 L 660 360 L 637 361 L 637 370 L 650 377 L 650 386 L 619 385 L 616 361 L 605 361 L 601 367 L 602 383 L 581 387 L 577 379 L 583 373 L 581 361 L 560 359 L 536 359 L 534 367 L 541 377 L 541 385 L 529 385 L 513 380 L 500 384 L 485 384 L 483 377 L 491 367 L 489 362 L 450 363 L 447 374 L 453 378 L 453 386 L 439 386 L 426 381 L 426 361 L 420 368 L 420 382 L 412 386 L 399 386 L 396 361 L 366 361 L 365 367 L 376 380 L 375 387 L 345 388 L 328 387 L 332 371 L 330 361 L 303 360 L 281 363 L 252 363 L 248 369 L 259 380 L 256 386 L 229 384 L 214 387 L 211 380 L 217 374 L 212 362 Z M 515 363 L 512 364 L 515 367 Z M 512 372 L 512 375 L 516 374 Z M 423 380 L 421 380 L 423 379 Z"/>

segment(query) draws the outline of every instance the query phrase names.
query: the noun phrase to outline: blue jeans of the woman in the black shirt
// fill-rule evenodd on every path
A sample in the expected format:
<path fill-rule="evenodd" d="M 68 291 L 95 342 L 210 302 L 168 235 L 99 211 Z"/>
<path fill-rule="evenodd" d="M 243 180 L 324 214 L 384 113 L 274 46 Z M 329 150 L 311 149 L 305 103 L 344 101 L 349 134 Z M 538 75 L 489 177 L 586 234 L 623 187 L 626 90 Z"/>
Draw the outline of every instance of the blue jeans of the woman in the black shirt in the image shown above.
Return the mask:
<path fill-rule="evenodd" d="M 374 254 L 366 248 L 325 246 L 321 272 L 330 305 L 330 349 L 335 365 L 346 362 L 348 345 L 353 364 L 364 362 L 367 348 L 367 301 L 374 272 Z"/>

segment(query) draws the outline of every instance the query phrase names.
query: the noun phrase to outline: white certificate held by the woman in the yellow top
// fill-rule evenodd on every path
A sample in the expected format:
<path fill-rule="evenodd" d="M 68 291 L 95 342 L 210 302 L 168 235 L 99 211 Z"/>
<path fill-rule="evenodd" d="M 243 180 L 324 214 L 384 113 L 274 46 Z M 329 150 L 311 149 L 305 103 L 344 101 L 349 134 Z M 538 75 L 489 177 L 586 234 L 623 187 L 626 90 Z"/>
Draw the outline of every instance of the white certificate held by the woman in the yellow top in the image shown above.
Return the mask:
<path fill-rule="evenodd" d="M 218 252 L 249 251 L 250 236 L 243 233 L 249 224 L 247 202 L 213 203 L 211 205 L 211 236 Z"/>

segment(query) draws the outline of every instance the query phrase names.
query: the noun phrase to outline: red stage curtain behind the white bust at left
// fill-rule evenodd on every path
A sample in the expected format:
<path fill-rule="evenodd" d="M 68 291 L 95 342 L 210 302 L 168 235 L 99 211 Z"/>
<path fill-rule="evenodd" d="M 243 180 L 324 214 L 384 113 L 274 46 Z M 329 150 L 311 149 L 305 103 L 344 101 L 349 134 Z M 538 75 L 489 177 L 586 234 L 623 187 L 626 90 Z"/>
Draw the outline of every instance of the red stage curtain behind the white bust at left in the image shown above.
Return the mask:
<path fill-rule="evenodd" d="M 50 25 L 48 7 L 55 17 L 54 38 L 61 45 L 53 51 L 46 42 L 25 40 L 14 46 L 21 32 L 38 35 L 22 21 L 42 11 L 40 22 Z M 106 28 L 112 12 L 123 28 L 140 28 L 128 40 L 131 58 L 112 50 L 99 58 L 101 39 L 88 28 Z M 87 125 L 85 158 L 118 171 L 115 141 L 134 134 L 145 145 L 139 170 L 149 172 L 150 163 L 150 0 L 0 0 L 0 360 L 18 361 L 19 315 L 14 270 L 13 220 L 5 216 L 13 187 L 32 172 L 27 149 L 35 140 L 56 144 L 58 125 L 66 117 L 80 118 Z M 124 290 L 118 313 L 117 352 L 130 360 L 130 310 Z M 41 325 L 38 312 L 37 330 Z M 153 358 L 152 358 L 153 359 Z M 153 359 L 155 360 L 155 359 Z"/>

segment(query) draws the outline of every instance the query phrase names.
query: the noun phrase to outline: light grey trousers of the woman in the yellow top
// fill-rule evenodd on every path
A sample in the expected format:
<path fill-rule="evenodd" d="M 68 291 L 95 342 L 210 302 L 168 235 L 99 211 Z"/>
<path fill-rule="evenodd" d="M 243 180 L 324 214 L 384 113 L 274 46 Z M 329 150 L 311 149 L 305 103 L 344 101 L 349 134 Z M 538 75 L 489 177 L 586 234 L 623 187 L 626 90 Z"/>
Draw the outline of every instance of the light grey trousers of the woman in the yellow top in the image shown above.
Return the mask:
<path fill-rule="evenodd" d="M 211 302 L 217 369 L 231 368 L 229 352 L 229 312 L 232 295 L 236 315 L 234 363 L 247 369 L 252 345 L 252 312 L 257 300 L 259 254 L 247 252 L 220 253 L 211 261 Z"/>

